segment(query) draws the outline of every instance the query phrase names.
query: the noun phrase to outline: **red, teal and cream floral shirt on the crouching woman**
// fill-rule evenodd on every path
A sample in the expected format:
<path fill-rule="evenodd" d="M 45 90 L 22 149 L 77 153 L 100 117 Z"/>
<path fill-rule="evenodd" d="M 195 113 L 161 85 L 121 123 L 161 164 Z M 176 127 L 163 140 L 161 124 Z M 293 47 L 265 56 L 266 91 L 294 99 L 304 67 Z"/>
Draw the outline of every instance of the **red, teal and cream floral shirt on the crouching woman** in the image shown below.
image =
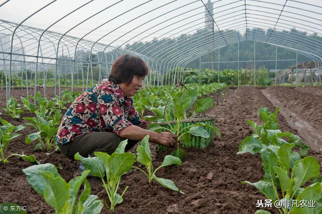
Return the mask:
<path fill-rule="evenodd" d="M 120 131 L 129 125 L 146 128 L 133 106 L 132 97 L 123 95 L 120 85 L 110 81 L 99 83 L 79 95 L 66 111 L 56 136 L 65 144 L 90 132 Z"/>

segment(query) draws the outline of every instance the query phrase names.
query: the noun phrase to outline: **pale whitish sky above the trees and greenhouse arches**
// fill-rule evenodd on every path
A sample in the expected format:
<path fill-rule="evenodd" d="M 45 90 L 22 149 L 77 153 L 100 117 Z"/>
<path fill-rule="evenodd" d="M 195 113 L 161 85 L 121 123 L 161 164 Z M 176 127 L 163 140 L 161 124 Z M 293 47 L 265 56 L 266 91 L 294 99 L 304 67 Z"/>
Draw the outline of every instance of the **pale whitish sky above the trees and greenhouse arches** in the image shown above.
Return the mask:
<path fill-rule="evenodd" d="M 0 5 L 5 2 L 0 0 Z M 0 7 L 0 19 L 20 23 L 51 2 L 11 0 Z M 208 0 L 203 2 L 206 4 Z M 205 15 L 203 2 L 200 0 L 57 0 L 27 19 L 23 25 L 47 29 L 55 23 L 48 30 L 63 34 L 83 22 L 69 31 L 68 35 L 119 46 L 135 41 L 150 41 L 158 37 L 175 37 L 203 28 Z M 241 29 L 243 33 L 246 26 L 244 0 L 212 0 L 211 2 L 214 3 L 213 18 L 220 30 Z M 322 29 L 320 12 L 322 1 L 302 2 L 308 5 L 289 0 L 283 9 L 285 1 L 266 0 L 266 3 L 263 3 L 246 0 L 248 27 L 267 29 L 274 27 L 279 20 L 283 24 L 275 26 L 276 29 L 294 27 L 308 33 L 315 32 L 322 35 L 320 30 Z M 82 7 L 83 5 L 85 6 Z M 81 8 L 63 18 L 78 7 Z M 85 21 L 105 8 L 108 9 Z M 282 9 L 283 12 L 280 13 Z M 268 15 L 267 13 L 270 13 L 270 17 L 265 16 Z M 232 14 L 235 16 L 233 17 Z M 63 19 L 58 21 L 61 18 Z M 233 25 L 234 23 L 239 25 Z M 217 29 L 216 26 L 215 29 Z M 184 30 L 186 28 L 187 30 Z M 6 32 L 6 30 L 0 28 L 0 32 Z"/>

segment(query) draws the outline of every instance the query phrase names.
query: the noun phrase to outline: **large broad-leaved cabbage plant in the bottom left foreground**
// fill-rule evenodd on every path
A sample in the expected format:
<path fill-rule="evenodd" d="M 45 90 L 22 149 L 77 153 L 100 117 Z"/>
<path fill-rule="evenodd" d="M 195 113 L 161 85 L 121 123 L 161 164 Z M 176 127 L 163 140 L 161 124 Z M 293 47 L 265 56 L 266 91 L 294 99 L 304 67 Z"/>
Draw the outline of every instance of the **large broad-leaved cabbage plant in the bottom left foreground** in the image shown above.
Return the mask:
<path fill-rule="evenodd" d="M 22 171 L 27 175 L 29 185 L 44 197 L 56 213 L 101 213 L 103 202 L 96 195 L 91 195 L 91 186 L 86 179 L 90 170 L 84 171 L 81 176 L 71 179 L 68 183 L 50 163 L 30 166 Z M 78 197 L 79 188 L 83 183 L 84 189 Z"/>

